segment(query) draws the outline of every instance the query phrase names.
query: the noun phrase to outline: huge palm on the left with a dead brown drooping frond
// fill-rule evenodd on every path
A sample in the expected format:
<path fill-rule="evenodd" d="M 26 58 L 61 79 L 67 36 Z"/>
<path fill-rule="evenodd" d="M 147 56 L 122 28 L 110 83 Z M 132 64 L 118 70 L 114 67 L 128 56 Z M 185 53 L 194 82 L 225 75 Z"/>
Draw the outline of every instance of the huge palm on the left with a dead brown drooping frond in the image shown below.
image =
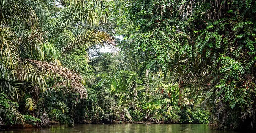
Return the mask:
<path fill-rule="evenodd" d="M 114 45 L 108 34 L 91 28 L 99 22 L 93 6 L 72 3 L 54 13 L 53 3 L 38 0 L 0 2 L 0 90 L 8 99 L 17 102 L 21 102 L 24 95 L 30 95 L 25 108 L 40 117 L 42 126 L 49 124 L 44 104 L 54 91 L 78 93 L 80 98 L 87 95 L 83 77 L 64 67 L 61 58 L 81 47 Z M 49 86 L 49 79 L 56 82 Z M 59 109 L 65 108 L 64 104 L 58 105 L 62 105 L 56 106 Z"/>

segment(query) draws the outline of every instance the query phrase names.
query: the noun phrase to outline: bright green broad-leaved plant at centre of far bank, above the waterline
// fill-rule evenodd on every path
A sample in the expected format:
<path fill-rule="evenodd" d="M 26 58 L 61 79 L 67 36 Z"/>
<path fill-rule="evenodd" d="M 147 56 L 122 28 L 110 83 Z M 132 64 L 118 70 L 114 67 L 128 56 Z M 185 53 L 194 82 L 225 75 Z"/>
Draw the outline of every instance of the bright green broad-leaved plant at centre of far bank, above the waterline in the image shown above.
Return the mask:
<path fill-rule="evenodd" d="M 135 73 L 120 70 L 116 77 L 112 79 L 110 88 L 106 89 L 110 96 L 117 101 L 121 121 L 126 121 L 126 118 L 129 121 L 132 120 L 129 109 L 140 110 L 138 92 L 143 90 L 144 87 L 138 85 L 138 83 Z"/>

